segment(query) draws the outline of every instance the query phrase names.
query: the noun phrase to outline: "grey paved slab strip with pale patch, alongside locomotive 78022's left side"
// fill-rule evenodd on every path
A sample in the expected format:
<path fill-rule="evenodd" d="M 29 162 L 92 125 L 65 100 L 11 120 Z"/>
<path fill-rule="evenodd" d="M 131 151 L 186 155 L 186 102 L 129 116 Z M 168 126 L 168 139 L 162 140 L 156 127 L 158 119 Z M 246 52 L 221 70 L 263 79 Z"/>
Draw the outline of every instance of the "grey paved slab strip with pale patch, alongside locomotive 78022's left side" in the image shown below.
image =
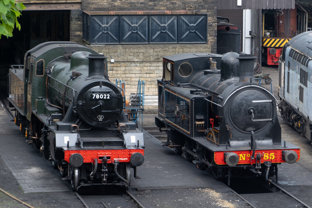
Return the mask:
<path fill-rule="evenodd" d="M 24 193 L 71 191 L 50 162 L 25 141 L 19 128 L 0 107 L 0 157 Z"/>

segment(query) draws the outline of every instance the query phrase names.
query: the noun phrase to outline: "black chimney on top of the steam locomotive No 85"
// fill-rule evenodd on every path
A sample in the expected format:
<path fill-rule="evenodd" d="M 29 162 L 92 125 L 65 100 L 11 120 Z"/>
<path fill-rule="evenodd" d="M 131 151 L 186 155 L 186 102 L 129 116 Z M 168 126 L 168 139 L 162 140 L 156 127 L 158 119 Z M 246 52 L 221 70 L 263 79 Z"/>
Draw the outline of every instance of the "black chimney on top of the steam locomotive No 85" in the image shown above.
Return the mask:
<path fill-rule="evenodd" d="M 257 57 L 251 54 L 240 54 L 237 59 L 239 60 L 240 67 L 240 77 L 239 82 L 249 82 L 255 83 L 254 68 L 255 59 Z"/>

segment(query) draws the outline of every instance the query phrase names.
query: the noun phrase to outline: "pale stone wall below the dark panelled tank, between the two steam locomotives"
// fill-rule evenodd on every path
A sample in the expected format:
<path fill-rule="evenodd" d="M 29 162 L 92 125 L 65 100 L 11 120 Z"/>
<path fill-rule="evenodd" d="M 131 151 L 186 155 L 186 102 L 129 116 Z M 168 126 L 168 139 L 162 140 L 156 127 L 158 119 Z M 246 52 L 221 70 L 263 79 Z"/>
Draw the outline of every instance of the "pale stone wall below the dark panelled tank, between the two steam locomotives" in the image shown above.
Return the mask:
<path fill-rule="evenodd" d="M 145 82 L 145 99 L 157 95 L 157 79 L 162 78 L 162 59 L 179 53 L 211 51 L 209 44 L 166 44 L 166 45 L 106 45 L 89 46 L 108 57 L 109 76 L 125 82 L 126 99 L 136 93 L 139 80 Z M 110 60 L 114 59 L 111 63 Z M 155 99 L 157 103 L 157 99 Z M 158 106 L 145 104 L 145 110 L 156 112 Z"/>

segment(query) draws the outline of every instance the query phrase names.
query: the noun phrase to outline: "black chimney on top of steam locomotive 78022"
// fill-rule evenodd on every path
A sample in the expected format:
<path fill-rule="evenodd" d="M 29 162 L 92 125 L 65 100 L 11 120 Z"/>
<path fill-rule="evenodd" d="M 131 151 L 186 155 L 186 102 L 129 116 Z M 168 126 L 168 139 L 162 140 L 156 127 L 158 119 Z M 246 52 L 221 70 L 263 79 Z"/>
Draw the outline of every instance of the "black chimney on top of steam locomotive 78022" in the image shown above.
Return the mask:
<path fill-rule="evenodd" d="M 89 59 L 89 78 L 104 78 L 105 59 L 103 54 L 90 54 Z"/>

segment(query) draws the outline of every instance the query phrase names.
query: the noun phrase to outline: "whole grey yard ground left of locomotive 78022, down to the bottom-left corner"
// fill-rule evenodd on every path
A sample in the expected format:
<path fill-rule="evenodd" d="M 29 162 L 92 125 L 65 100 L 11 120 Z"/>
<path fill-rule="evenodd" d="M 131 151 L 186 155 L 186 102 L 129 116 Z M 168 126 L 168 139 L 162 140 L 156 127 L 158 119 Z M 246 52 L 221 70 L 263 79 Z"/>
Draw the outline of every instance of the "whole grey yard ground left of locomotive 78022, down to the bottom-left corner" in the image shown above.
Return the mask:
<path fill-rule="evenodd" d="M 34 207 L 83 207 L 0 106 L 0 188 Z M 56 194 L 56 192 L 58 192 Z M 0 207 L 25 207 L 0 191 Z"/>

